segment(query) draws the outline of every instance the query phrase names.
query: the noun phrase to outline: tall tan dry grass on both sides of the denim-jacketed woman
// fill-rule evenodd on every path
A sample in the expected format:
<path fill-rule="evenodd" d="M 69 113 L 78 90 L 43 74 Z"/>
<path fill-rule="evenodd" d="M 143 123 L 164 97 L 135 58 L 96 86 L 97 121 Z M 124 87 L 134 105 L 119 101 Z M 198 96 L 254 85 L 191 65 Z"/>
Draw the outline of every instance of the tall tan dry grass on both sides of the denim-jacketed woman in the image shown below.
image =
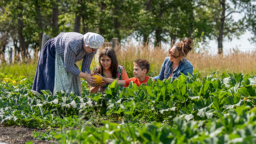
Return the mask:
<path fill-rule="evenodd" d="M 145 58 L 150 62 L 149 76 L 157 76 L 160 72 L 164 58 L 169 56 L 168 49 L 153 48 L 152 45 L 143 46 L 132 43 L 116 49 L 118 62 L 126 68 L 129 78 L 133 77 L 133 61 L 137 58 Z M 223 72 L 236 72 L 256 75 L 256 50 L 252 52 L 240 52 L 230 50 L 225 55 L 212 54 L 212 52 L 201 51 L 199 53 L 188 53 L 187 59 L 192 63 L 194 70 L 198 70 L 202 77 L 213 72 L 217 75 Z"/>

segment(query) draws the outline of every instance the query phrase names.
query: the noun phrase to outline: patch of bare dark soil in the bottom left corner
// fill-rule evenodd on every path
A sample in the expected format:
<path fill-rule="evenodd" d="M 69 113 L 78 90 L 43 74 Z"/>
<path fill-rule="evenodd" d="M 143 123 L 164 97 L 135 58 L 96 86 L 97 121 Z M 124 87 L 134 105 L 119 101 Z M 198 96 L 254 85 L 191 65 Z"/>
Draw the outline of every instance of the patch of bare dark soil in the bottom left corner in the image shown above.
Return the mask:
<path fill-rule="evenodd" d="M 39 130 L 35 128 L 27 128 L 24 126 L 4 126 L 0 123 L 0 143 L 7 144 L 26 144 L 26 142 L 33 142 L 33 144 L 57 144 L 54 140 L 38 140 L 33 137 L 33 132 L 46 132 L 46 130 Z"/>

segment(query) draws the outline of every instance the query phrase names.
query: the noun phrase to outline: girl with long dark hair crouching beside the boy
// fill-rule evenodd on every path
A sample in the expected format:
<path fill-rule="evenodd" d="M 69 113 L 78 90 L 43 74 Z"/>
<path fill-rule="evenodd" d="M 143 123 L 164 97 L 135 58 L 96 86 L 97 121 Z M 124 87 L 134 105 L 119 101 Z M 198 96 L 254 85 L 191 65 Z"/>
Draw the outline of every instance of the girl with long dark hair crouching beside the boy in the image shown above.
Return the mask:
<path fill-rule="evenodd" d="M 105 48 L 100 52 L 99 65 L 92 70 L 94 74 L 100 74 L 106 78 L 126 80 L 128 75 L 123 66 L 118 65 L 116 52 L 112 48 Z M 104 92 L 109 83 L 102 82 L 98 86 L 91 86 L 90 93 Z"/>

